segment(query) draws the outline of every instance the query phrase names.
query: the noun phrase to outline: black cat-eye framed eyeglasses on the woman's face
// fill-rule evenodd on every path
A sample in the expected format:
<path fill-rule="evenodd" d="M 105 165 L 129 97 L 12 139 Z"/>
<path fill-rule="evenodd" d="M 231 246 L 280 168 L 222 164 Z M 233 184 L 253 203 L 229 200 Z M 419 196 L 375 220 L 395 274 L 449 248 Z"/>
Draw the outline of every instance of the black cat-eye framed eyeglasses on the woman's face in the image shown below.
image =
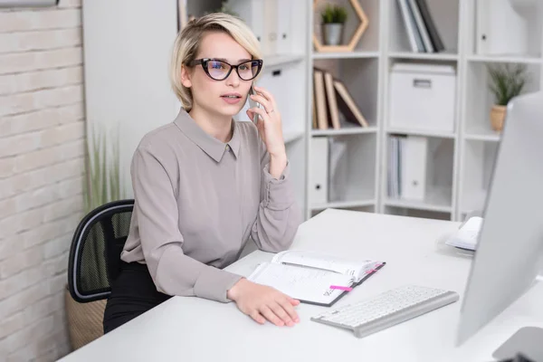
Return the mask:
<path fill-rule="evenodd" d="M 261 59 L 242 62 L 237 65 L 213 58 L 195 59 L 194 61 L 188 63 L 190 66 L 195 66 L 198 64 L 201 64 L 202 68 L 204 68 L 205 74 L 215 81 L 224 81 L 226 78 L 228 78 L 228 76 L 230 76 L 233 69 L 235 69 L 240 79 L 243 81 L 251 81 L 256 78 L 258 73 L 260 73 L 262 70 Z"/>

